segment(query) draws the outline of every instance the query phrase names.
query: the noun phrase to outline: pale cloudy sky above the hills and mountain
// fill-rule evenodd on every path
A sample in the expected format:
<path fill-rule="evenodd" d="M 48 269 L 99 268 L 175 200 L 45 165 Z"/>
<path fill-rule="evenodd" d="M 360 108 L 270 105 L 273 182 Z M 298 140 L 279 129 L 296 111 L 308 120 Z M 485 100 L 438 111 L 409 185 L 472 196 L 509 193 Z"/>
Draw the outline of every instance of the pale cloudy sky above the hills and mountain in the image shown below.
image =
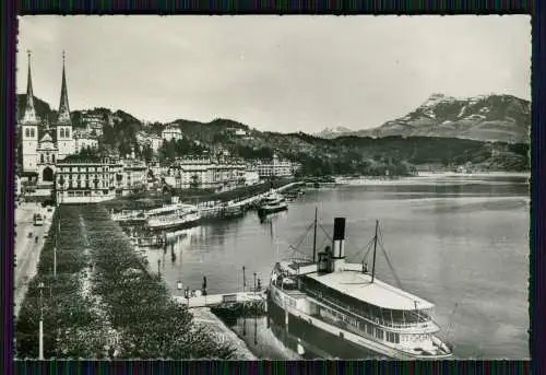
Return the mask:
<path fill-rule="evenodd" d="M 366 129 L 432 93 L 531 97 L 529 15 L 25 15 L 17 93 L 139 119 L 259 130 Z"/>

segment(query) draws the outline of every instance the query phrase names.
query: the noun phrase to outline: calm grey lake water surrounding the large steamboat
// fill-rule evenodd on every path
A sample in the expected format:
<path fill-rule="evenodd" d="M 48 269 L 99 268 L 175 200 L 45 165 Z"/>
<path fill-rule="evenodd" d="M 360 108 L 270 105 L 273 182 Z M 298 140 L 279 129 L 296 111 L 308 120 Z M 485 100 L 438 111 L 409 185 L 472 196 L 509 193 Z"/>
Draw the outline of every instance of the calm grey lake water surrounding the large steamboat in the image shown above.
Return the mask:
<path fill-rule="evenodd" d="M 442 176 L 310 189 L 264 222 L 248 212 L 188 230 L 174 246 L 176 260 L 170 249 L 146 251 L 151 268 L 161 259 L 162 274 L 180 295 L 178 280 L 200 289 L 203 276 L 210 294 L 240 291 L 242 266 L 247 288 L 253 272 L 265 286 L 274 262 L 294 253 L 289 245 L 300 243 L 299 251 L 312 254 L 312 230 L 302 236 L 314 208 L 329 235 L 334 216 L 347 219 L 348 261 L 363 260 L 379 220 L 395 276 L 404 290 L 436 304 L 441 337 L 453 344 L 455 358 L 529 358 L 527 177 Z M 317 244 L 319 249 L 328 244 L 321 228 Z M 396 284 L 382 251 L 377 254 L 378 278 Z M 260 358 L 298 358 L 265 318 L 228 324 Z M 328 348 L 316 353 L 329 355 Z"/>

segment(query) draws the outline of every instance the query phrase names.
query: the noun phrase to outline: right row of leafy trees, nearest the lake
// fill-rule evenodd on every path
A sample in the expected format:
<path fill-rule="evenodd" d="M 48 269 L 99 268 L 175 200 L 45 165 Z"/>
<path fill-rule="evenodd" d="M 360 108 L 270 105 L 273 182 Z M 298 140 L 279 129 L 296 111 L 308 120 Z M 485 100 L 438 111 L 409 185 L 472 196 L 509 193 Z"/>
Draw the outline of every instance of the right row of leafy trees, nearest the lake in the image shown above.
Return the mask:
<path fill-rule="evenodd" d="M 166 285 L 150 274 L 107 211 L 87 206 L 82 212 L 95 262 L 93 292 L 104 301 L 119 332 L 120 359 L 229 359 L 234 350 L 217 343 L 192 321 L 186 306 L 171 301 Z"/>

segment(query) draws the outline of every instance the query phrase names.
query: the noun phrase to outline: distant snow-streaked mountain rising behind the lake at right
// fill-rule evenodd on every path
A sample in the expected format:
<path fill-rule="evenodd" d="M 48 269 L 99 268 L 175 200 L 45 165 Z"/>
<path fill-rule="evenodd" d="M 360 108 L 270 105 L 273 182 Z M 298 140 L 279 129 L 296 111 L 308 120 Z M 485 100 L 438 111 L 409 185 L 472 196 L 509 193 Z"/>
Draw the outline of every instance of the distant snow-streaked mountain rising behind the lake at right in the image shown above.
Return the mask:
<path fill-rule="evenodd" d="M 432 94 L 404 117 L 378 128 L 349 132 L 322 131 L 318 137 L 444 137 L 529 143 L 531 103 L 512 95 L 454 98 Z"/>

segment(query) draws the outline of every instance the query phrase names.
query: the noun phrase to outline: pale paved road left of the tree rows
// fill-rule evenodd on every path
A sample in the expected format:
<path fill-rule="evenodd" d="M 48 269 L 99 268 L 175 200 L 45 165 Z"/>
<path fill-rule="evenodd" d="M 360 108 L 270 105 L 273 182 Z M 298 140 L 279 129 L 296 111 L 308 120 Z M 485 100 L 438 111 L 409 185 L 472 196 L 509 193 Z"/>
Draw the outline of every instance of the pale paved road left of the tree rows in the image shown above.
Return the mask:
<path fill-rule="evenodd" d="M 39 212 L 46 215 L 43 226 L 34 226 L 33 215 Z M 55 211 L 54 211 L 55 212 Z M 39 255 L 44 246 L 44 233 L 51 225 L 54 212 L 46 212 L 41 206 L 36 203 L 22 203 L 15 209 L 15 269 L 14 269 L 14 304 L 15 316 L 19 314 L 21 303 L 28 289 L 28 281 L 36 274 Z M 33 233 L 32 238 L 28 233 Z M 35 236 L 38 236 L 38 243 L 35 242 Z"/>

